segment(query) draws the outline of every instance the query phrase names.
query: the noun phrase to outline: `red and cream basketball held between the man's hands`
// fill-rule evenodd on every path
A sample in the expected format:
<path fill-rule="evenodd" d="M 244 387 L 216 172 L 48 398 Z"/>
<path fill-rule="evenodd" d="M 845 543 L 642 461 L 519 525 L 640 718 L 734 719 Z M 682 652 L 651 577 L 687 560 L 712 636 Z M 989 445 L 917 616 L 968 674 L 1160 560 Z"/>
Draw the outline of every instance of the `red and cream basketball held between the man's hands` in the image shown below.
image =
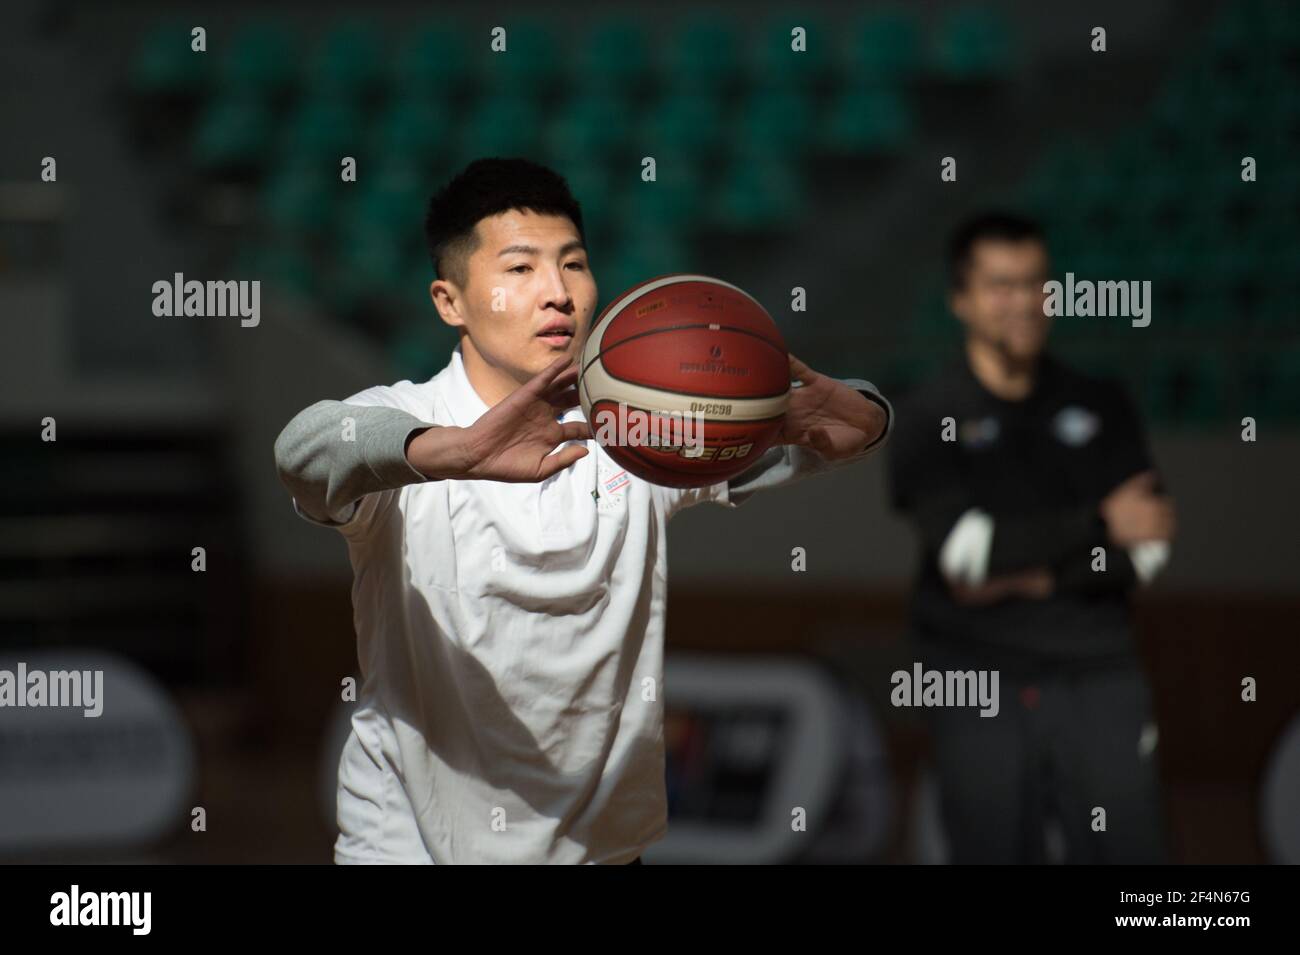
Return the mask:
<path fill-rule="evenodd" d="M 582 348 L 578 399 L 620 465 L 667 487 L 749 468 L 781 433 L 789 355 L 748 292 L 707 275 L 659 275 L 614 299 Z"/>

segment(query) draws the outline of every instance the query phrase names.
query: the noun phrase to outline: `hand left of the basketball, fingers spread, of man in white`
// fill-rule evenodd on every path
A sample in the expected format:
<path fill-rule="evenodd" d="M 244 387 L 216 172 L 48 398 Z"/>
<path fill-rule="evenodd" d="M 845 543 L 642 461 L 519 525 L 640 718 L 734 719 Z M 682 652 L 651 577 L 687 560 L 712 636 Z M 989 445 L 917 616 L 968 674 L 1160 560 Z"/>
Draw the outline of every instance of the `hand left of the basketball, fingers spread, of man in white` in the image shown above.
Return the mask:
<path fill-rule="evenodd" d="M 585 421 L 556 418 L 577 404 L 577 365 L 559 357 L 469 427 L 430 427 L 407 444 L 407 460 L 430 478 L 545 481 L 586 455 L 567 440 L 588 440 Z"/>

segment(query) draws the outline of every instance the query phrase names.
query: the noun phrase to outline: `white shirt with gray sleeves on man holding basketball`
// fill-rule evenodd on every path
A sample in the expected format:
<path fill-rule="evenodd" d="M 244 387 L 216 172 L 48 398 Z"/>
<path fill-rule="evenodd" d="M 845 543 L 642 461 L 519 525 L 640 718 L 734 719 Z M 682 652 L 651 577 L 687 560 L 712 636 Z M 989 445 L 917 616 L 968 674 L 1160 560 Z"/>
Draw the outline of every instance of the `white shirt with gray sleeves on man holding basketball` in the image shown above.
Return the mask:
<path fill-rule="evenodd" d="M 276 442 L 295 509 L 343 534 L 355 574 L 339 863 L 637 858 L 667 828 L 668 518 L 835 466 L 779 447 L 729 485 L 675 490 L 595 440 L 537 483 L 428 481 L 407 463 L 413 430 L 486 411 L 458 348 L 430 381 L 320 401 Z"/>

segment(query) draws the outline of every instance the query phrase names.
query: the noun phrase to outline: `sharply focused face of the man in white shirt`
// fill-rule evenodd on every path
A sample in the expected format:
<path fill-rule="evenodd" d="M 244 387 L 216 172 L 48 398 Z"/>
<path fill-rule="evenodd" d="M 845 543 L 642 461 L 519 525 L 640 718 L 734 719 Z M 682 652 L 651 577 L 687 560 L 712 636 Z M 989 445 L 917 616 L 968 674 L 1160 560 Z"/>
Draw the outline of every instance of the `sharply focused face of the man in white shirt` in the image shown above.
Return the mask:
<path fill-rule="evenodd" d="M 581 353 L 597 287 L 567 216 L 512 209 L 481 220 L 476 231 L 465 286 L 438 279 L 429 291 L 442 320 L 465 329 L 467 372 L 494 403 L 560 355 Z"/>

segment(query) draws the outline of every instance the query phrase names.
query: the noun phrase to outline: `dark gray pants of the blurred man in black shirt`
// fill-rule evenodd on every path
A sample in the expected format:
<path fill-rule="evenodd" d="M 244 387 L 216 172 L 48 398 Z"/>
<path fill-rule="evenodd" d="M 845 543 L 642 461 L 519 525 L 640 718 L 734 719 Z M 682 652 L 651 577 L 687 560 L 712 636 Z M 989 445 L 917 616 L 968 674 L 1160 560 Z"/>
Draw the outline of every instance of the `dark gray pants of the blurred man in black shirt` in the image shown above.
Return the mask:
<path fill-rule="evenodd" d="M 922 643 L 927 669 L 979 669 Z M 1076 676 L 1000 670 L 1001 709 L 927 707 L 953 863 L 1048 861 L 1054 816 L 1066 863 L 1167 863 L 1156 724 L 1136 659 Z M 1100 830 L 1097 809 L 1104 809 Z"/>

